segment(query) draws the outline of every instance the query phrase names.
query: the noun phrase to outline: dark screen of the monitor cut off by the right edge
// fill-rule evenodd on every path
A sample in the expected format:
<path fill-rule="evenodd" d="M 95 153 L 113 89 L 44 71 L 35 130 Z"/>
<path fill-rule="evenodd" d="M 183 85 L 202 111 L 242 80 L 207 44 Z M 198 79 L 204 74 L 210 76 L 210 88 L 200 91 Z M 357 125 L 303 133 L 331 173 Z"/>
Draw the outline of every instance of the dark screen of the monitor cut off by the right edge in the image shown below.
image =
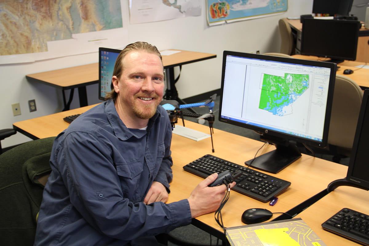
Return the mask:
<path fill-rule="evenodd" d="M 369 189 L 369 90 L 364 91 L 347 172 L 349 182 Z"/>

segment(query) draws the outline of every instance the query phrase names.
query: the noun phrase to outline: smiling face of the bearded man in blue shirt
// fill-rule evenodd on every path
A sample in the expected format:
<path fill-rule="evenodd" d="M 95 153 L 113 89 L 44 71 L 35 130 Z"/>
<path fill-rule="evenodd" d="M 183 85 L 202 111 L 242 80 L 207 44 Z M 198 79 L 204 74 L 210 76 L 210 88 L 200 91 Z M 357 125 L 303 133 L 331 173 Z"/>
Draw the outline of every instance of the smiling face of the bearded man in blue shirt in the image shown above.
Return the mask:
<path fill-rule="evenodd" d="M 122 60 L 123 72 L 114 85 L 125 114 L 133 119 L 149 119 L 163 98 L 163 63 L 158 55 L 131 51 Z"/>

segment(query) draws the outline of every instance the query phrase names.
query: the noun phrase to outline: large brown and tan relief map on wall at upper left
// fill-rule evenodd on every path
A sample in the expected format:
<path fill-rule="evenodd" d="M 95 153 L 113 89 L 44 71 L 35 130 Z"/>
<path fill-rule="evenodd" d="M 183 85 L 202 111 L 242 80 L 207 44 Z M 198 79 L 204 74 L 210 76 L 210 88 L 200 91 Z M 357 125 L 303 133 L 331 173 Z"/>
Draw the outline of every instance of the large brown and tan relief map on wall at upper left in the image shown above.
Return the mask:
<path fill-rule="evenodd" d="M 0 64 L 117 48 L 121 29 L 120 0 L 0 1 Z"/>

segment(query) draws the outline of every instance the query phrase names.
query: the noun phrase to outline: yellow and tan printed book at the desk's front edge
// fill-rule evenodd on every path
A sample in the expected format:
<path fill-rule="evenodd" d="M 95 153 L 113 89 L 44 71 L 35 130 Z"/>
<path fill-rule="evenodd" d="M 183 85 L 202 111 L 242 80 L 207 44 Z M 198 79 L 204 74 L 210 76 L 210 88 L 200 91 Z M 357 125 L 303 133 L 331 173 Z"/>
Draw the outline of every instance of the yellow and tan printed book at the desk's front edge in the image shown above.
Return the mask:
<path fill-rule="evenodd" d="M 301 218 L 229 227 L 225 235 L 232 246 L 326 246 Z"/>

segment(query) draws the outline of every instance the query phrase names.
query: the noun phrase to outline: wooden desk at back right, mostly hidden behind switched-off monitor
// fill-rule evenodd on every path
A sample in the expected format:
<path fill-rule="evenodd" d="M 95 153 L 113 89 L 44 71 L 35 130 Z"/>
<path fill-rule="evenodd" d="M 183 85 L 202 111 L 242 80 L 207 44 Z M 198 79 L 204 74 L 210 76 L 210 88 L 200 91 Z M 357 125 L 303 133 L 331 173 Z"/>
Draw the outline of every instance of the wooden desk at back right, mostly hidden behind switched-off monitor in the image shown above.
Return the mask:
<path fill-rule="evenodd" d="M 300 20 L 288 20 L 292 32 L 296 37 L 296 53 L 300 53 L 302 23 Z M 369 62 L 369 30 L 361 27 L 359 30 L 358 48 L 356 50 L 356 60 Z"/>

